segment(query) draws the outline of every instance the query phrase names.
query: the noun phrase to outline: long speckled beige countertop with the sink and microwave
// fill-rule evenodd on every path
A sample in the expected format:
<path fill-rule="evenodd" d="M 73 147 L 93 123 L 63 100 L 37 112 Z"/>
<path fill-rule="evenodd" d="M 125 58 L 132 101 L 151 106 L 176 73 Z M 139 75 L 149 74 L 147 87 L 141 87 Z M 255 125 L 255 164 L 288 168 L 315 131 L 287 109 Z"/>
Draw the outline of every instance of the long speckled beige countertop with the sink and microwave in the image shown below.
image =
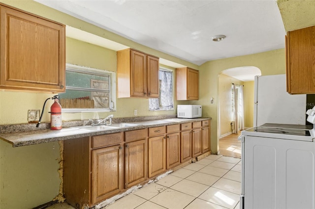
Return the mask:
<path fill-rule="evenodd" d="M 88 131 L 84 129 L 78 129 L 77 127 L 63 128 L 62 130 L 38 130 L 38 131 L 22 131 L 22 132 L 12 132 L 12 133 L 1 133 L 0 139 L 12 144 L 13 147 L 20 147 L 32 144 L 41 144 L 52 141 L 61 141 L 72 138 L 95 136 L 108 133 L 115 133 L 120 131 L 131 131 L 138 129 L 145 129 L 158 126 L 166 126 L 173 124 L 198 122 L 204 120 L 211 120 L 211 118 L 169 118 L 162 120 L 151 120 L 151 121 L 139 121 L 139 122 L 128 122 L 128 124 L 136 124 L 137 126 L 125 127 L 125 128 L 115 128 L 110 130 L 101 131 Z"/>

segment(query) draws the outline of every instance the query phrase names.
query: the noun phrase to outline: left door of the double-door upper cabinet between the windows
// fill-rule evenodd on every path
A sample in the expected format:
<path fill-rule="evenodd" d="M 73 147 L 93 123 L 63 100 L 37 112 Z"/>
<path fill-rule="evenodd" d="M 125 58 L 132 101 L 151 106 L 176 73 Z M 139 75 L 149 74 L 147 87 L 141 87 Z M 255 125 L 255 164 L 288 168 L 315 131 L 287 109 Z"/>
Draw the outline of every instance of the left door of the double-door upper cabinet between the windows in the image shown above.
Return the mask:
<path fill-rule="evenodd" d="M 131 96 L 147 96 L 147 55 L 131 53 Z"/>

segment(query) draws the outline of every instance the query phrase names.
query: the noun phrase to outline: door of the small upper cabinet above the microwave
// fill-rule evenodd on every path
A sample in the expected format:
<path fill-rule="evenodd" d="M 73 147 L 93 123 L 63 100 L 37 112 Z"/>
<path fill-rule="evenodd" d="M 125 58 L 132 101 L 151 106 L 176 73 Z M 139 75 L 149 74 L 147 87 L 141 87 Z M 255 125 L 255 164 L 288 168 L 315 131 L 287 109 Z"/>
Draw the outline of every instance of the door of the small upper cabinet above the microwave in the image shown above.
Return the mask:
<path fill-rule="evenodd" d="M 188 68 L 187 71 L 187 98 L 199 99 L 199 71 Z"/>

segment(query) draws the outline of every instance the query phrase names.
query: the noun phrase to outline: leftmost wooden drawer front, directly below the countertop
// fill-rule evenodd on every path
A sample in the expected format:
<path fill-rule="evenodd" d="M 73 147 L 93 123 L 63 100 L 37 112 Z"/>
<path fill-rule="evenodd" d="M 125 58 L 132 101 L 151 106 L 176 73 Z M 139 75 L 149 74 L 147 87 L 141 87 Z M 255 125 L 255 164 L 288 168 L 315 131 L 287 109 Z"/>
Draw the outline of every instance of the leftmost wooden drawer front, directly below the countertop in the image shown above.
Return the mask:
<path fill-rule="evenodd" d="M 120 144 L 123 142 L 122 132 L 92 136 L 92 149 Z"/>

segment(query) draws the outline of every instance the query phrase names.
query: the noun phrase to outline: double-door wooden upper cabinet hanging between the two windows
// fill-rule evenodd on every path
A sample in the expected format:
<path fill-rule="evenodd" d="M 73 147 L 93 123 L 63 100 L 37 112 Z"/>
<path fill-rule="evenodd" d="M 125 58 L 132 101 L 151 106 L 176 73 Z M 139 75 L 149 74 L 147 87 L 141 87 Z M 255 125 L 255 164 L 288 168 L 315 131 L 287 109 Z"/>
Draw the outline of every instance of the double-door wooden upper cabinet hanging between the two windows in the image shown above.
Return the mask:
<path fill-rule="evenodd" d="M 118 98 L 158 98 L 158 70 L 158 57 L 133 49 L 118 51 Z"/>

